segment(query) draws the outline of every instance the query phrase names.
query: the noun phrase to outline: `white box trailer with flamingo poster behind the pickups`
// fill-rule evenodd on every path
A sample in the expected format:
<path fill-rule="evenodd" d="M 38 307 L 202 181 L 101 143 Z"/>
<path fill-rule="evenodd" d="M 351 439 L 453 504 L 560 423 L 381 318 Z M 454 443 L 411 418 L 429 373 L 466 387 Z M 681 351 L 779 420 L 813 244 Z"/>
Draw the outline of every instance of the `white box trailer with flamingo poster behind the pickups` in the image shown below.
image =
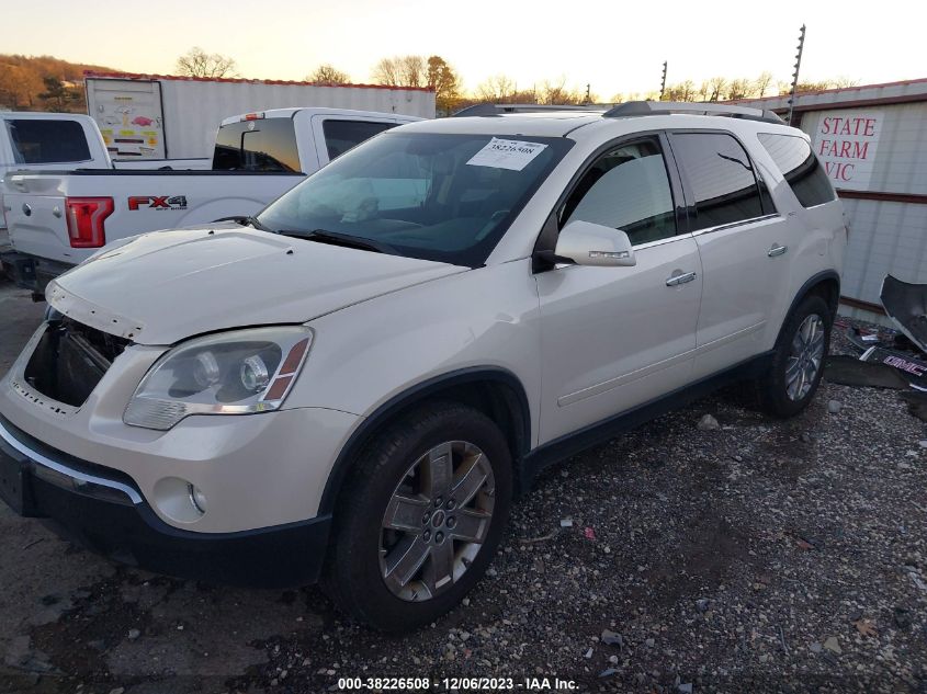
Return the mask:
<path fill-rule="evenodd" d="M 433 118 L 434 92 L 162 75 L 84 73 L 87 112 L 114 160 L 212 158 L 216 128 L 235 113 L 325 106 Z"/>

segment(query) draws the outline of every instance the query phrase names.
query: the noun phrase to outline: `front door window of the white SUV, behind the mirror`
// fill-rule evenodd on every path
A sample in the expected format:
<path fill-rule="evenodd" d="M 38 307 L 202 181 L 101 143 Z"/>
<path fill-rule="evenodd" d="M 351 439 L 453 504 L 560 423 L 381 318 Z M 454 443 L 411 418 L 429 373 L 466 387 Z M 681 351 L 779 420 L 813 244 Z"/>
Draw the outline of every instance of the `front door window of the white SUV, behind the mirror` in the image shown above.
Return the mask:
<path fill-rule="evenodd" d="M 621 229 L 635 246 L 676 236 L 676 213 L 656 140 L 622 145 L 583 175 L 561 213 L 563 225 L 591 221 Z"/>

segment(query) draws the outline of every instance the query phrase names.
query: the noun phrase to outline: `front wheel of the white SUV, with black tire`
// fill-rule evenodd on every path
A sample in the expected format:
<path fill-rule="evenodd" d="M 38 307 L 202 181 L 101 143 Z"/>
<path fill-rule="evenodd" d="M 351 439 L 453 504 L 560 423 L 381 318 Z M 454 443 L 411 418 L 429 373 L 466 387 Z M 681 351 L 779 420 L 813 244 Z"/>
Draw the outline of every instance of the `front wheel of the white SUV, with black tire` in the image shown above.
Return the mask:
<path fill-rule="evenodd" d="M 430 405 L 377 435 L 344 483 L 323 588 L 376 629 L 412 629 L 489 566 L 511 504 L 511 455 L 482 412 Z"/>

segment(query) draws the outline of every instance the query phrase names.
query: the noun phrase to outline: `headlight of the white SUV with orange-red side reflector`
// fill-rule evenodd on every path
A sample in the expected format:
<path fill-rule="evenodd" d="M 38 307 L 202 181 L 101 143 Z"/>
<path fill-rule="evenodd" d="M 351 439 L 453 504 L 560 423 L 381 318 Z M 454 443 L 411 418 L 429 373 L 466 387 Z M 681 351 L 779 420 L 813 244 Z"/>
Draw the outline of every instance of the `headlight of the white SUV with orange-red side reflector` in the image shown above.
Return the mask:
<path fill-rule="evenodd" d="M 190 414 L 276 410 L 296 380 L 312 341 L 308 328 L 281 327 L 184 342 L 145 375 L 123 421 L 166 431 Z"/>

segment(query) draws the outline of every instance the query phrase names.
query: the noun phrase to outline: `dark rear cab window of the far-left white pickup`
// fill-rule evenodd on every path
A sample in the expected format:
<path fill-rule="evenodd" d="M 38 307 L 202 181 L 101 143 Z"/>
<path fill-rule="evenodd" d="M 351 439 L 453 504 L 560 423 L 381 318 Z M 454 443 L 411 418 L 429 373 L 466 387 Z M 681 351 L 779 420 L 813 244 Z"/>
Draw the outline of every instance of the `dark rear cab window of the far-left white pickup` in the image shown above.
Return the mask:
<path fill-rule="evenodd" d="M 7 121 L 15 163 L 67 163 L 88 161 L 90 148 L 80 123 L 75 121 Z"/>

